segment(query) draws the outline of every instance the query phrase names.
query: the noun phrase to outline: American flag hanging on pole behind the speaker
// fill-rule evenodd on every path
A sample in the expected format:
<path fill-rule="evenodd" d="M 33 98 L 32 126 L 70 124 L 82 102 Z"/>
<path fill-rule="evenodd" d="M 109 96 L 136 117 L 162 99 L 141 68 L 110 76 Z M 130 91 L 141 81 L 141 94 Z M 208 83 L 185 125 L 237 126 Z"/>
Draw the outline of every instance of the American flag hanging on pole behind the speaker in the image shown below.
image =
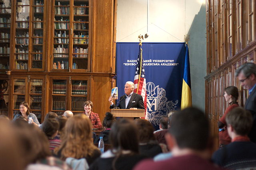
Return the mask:
<path fill-rule="evenodd" d="M 145 78 L 145 69 L 142 57 L 142 43 L 139 45 L 139 54 L 137 59 L 137 66 L 134 76 L 134 92 L 142 95 L 145 107 L 145 119 L 148 119 L 147 113 L 147 91 L 146 91 L 146 78 Z"/>

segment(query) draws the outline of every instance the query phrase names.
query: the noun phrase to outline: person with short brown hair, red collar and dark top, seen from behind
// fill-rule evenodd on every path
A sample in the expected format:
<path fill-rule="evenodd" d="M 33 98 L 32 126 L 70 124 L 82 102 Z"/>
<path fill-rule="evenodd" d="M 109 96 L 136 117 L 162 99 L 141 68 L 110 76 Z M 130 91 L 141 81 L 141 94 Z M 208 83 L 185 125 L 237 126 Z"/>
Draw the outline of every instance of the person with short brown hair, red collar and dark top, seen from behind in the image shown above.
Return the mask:
<path fill-rule="evenodd" d="M 256 169 L 256 144 L 247 134 L 252 127 L 252 115 L 242 107 L 236 107 L 226 116 L 228 134 L 232 142 L 212 155 L 212 160 L 228 169 Z"/>

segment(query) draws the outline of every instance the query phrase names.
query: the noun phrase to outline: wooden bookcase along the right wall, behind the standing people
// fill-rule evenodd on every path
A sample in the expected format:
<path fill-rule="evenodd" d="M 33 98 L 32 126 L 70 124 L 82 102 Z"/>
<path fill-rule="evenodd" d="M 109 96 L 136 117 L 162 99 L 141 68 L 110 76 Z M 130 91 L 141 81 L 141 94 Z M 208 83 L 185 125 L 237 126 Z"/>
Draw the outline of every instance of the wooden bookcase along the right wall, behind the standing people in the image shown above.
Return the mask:
<path fill-rule="evenodd" d="M 238 87 L 238 104 L 242 107 L 248 97 L 235 71 L 246 62 L 256 63 L 255 0 L 207 0 L 206 42 L 205 112 L 211 123 L 216 150 L 217 122 L 228 107 L 223 97 L 224 88 Z"/>

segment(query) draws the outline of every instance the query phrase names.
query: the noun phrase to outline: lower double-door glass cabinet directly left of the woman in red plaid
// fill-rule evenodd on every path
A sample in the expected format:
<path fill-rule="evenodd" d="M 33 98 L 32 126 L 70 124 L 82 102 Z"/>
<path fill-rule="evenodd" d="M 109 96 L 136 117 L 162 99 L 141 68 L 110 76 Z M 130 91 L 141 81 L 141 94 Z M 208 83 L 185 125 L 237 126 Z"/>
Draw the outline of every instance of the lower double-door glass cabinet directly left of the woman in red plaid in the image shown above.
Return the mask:
<path fill-rule="evenodd" d="M 51 78 L 51 111 L 62 115 L 64 111 L 73 113 L 84 112 L 83 103 L 88 99 L 88 79 L 77 77 L 54 77 Z"/>

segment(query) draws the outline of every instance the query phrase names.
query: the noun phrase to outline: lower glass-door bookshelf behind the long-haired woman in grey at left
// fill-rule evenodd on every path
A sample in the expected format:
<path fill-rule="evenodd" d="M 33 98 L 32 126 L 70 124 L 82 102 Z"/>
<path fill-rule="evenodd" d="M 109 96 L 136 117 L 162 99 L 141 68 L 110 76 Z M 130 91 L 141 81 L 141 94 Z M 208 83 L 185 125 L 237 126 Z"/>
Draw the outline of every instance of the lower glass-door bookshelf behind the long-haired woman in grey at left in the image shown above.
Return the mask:
<path fill-rule="evenodd" d="M 41 122 L 44 111 L 44 77 L 14 77 L 13 79 L 13 117 L 20 110 L 20 103 L 27 101 L 30 110 L 34 113 L 39 122 Z"/>

